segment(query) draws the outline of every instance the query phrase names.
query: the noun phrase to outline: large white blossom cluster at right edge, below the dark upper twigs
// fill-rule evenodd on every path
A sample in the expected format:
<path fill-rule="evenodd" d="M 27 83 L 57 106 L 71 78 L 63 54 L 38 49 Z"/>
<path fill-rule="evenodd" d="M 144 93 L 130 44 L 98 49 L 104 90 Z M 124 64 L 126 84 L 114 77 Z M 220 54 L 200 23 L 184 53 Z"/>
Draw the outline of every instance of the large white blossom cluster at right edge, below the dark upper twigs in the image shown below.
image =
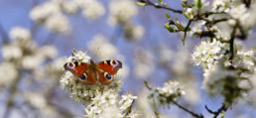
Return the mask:
<path fill-rule="evenodd" d="M 255 51 L 245 51 L 241 44 L 235 42 L 232 61 L 225 56 L 227 51 L 218 41 L 207 43 L 202 41 L 192 54 L 195 65 L 203 67 L 203 88 L 209 95 L 222 95 L 225 103 L 237 98 L 251 89 L 252 86 L 241 85 L 250 81 L 255 69 Z"/>

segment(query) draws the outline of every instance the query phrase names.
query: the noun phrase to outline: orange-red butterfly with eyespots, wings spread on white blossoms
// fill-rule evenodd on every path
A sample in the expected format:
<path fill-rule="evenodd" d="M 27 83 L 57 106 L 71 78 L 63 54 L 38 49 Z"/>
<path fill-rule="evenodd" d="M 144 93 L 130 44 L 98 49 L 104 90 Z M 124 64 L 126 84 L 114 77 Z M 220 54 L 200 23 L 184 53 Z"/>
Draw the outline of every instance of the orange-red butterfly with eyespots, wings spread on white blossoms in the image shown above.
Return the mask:
<path fill-rule="evenodd" d="M 117 70 L 122 68 L 122 62 L 115 59 L 95 63 L 92 59 L 88 62 L 66 62 L 64 69 L 70 71 L 84 84 L 101 83 L 108 85 L 112 82 Z"/>

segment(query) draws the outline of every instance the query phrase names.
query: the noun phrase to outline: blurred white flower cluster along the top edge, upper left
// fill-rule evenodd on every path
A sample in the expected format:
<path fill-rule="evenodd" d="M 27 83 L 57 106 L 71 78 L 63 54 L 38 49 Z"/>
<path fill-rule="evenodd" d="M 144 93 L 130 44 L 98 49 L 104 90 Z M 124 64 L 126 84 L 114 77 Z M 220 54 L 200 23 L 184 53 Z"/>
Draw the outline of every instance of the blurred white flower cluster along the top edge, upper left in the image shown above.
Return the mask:
<path fill-rule="evenodd" d="M 103 5 L 96 0 L 49 0 L 34 7 L 30 17 L 53 32 L 68 34 L 70 25 L 64 12 L 74 14 L 78 9 L 85 18 L 92 20 L 105 13 Z"/>

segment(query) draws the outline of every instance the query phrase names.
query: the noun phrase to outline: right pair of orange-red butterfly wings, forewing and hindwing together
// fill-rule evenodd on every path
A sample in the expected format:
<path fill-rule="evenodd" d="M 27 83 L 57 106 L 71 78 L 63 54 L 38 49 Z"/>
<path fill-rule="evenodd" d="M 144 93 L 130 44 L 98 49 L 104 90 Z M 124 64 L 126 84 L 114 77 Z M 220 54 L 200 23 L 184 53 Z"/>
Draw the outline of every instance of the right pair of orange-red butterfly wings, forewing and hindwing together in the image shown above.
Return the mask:
<path fill-rule="evenodd" d="M 119 60 L 105 60 L 95 64 L 98 81 L 101 84 L 109 84 L 113 80 L 113 75 L 116 74 L 119 68 L 122 68 L 122 62 Z"/>

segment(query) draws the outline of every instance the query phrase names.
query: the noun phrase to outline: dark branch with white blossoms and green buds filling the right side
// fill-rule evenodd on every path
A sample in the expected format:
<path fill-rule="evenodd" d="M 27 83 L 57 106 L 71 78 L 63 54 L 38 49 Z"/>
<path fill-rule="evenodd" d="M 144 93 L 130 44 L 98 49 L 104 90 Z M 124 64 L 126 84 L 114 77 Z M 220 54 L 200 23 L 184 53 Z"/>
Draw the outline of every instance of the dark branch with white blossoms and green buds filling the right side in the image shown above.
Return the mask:
<path fill-rule="evenodd" d="M 170 33 L 183 32 L 184 44 L 188 33 L 201 39 L 192 52 L 192 63 L 203 69 L 202 88 L 210 96 L 223 97 L 224 105 L 218 111 L 206 107 L 214 117 L 239 99 L 246 99 L 248 91 L 255 91 L 255 49 L 246 49 L 240 42 L 256 25 L 254 0 L 182 0 L 183 10 L 170 8 L 163 0 L 138 0 L 137 4 L 168 10 L 165 28 Z M 169 11 L 184 15 L 188 24 L 173 20 Z"/>

